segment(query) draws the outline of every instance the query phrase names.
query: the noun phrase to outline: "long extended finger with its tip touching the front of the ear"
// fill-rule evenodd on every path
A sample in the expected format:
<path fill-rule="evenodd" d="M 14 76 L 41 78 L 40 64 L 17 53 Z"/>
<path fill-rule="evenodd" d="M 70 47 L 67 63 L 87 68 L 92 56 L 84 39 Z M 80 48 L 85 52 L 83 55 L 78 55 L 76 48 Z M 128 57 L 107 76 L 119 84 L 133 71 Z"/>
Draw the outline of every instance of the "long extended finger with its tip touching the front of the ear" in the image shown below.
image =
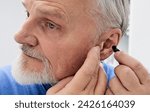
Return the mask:
<path fill-rule="evenodd" d="M 89 51 L 84 64 L 67 86 L 77 91 L 84 90 L 91 81 L 93 75 L 97 75 L 100 60 L 99 57 L 100 48 L 92 48 Z"/>

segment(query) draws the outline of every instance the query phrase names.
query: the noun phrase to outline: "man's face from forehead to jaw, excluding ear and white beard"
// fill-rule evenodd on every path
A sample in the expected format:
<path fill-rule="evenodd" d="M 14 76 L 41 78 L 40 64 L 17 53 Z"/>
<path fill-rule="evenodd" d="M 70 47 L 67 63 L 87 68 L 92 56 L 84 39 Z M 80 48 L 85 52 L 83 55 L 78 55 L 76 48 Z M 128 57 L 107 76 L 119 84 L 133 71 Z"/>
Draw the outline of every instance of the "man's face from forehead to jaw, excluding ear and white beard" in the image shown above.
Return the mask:
<path fill-rule="evenodd" d="M 15 36 L 23 45 L 22 70 L 42 73 L 47 60 L 49 77 L 61 80 L 74 75 L 97 44 L 96 25 L 90 15 L 94 1 L 24 0 L 23 4 L 29 17 Z"/>

